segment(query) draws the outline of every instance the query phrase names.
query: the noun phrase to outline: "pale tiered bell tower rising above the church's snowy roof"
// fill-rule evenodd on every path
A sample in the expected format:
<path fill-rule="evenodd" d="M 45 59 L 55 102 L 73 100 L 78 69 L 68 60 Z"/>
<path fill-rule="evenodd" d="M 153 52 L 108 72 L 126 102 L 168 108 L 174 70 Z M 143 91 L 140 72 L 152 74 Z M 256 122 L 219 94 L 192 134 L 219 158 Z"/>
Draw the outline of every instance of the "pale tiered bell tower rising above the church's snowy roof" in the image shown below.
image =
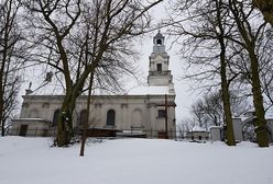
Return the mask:
<path fill-rule="evenodd" d="M 148 84 L 173 88 L 173 76 L 168 70 L 170 56 L 165 50 L 165 37 L 159 31 L 153 37 L 153 53 L 149 57 Z"/>

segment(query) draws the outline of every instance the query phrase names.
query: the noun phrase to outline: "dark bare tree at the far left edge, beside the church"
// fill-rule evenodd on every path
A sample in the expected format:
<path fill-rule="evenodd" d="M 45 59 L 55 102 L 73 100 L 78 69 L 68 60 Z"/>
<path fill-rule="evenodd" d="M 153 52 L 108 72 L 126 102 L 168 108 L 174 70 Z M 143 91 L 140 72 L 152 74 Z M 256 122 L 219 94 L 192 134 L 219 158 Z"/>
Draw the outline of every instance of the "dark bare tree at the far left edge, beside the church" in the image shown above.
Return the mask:
<path fill-rule="evenodd" d="M 19 70 L 23 65 L 26 47 L 18 24 L 19 9 L 17 0 L 0 2 L 0 124 L 1 135 L 6 135 L 17 107 L 20 88 Z"/>

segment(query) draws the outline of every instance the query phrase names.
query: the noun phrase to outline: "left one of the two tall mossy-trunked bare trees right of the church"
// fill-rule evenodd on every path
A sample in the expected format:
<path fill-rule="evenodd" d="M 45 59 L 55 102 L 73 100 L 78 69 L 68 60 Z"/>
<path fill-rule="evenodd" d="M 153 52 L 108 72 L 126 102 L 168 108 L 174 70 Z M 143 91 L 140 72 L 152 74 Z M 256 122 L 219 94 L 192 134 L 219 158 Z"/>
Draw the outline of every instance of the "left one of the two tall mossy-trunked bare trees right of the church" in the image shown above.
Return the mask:
<path fill-rule="evenodd" d="M 198 70 L 194 69 L 195 73 L 187 78 L 195 79 L 203 84 L 204 81 L 210 80 L 206 88 L 221 85 L 225 123 L 228 127 L 227 143 L 234 146 L 229 88 L 230 82 L 238 74 L 232 74 L 228 68 L 229 43 L 226 37 L 232 30 L 229 11 L 222 0 L 179 2 L 175 5 L 175 11 L 179 13 L 181 20 L 171 19 L 168 24 L 172 25 L 171 34 L 186 37 L 183 46 L 188 49 L 186 57 L 190 66 L 189 70 L 193 70 L 193 66 L 198 67 Z"/>

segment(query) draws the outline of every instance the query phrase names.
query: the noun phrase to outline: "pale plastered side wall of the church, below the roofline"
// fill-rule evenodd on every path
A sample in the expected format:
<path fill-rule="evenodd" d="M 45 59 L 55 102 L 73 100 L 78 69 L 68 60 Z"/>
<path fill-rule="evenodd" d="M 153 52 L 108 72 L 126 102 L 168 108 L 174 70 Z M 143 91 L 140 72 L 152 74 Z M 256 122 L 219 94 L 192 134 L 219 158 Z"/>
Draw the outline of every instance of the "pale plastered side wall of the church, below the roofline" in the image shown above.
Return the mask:
<path fill-rule="evenodd" d="M 175 96 L 168 96 L 168 104 L 174 104 Z M 54 112 L 61 108 L 63 96 L 56 95 L 25 95 L 21 118 L 39 117 L 53 120 Z M 87 96 L 77 100 L 74 112 L 74 125 L 78 116 L 86 108 Z M 142 130 L 165 130 L 165 118 L 159 117 L 159 110 L 164 110 L 165 95 L 103 95 L 94 96 L 90 105 L 90 117 L 95 119 L 90 127 L 109 129 L 131 129 L 142 127 Z M 161 105 L 161 106 L 159 106 Z M 116 112 L 114 126 L 107 126 L 107 112 Z M 168 107 L 168 130 L 176 130 L 175 107 Z M 175 134 L 174 134 L 175 135 Z"/>

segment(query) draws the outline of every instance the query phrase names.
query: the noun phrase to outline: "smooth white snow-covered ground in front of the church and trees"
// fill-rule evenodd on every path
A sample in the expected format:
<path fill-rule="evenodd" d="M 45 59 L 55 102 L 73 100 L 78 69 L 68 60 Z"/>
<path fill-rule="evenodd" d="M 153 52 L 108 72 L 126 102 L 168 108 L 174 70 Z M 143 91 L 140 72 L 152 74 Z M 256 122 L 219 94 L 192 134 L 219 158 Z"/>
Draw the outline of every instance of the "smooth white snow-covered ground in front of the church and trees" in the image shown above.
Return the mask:
<path fill-rule="evenodd" d="M 0 138 L 0 184 L 273 184 L 273 147 L 250 142 L 117 139 L 50 148 L 48 138 Z"/>

